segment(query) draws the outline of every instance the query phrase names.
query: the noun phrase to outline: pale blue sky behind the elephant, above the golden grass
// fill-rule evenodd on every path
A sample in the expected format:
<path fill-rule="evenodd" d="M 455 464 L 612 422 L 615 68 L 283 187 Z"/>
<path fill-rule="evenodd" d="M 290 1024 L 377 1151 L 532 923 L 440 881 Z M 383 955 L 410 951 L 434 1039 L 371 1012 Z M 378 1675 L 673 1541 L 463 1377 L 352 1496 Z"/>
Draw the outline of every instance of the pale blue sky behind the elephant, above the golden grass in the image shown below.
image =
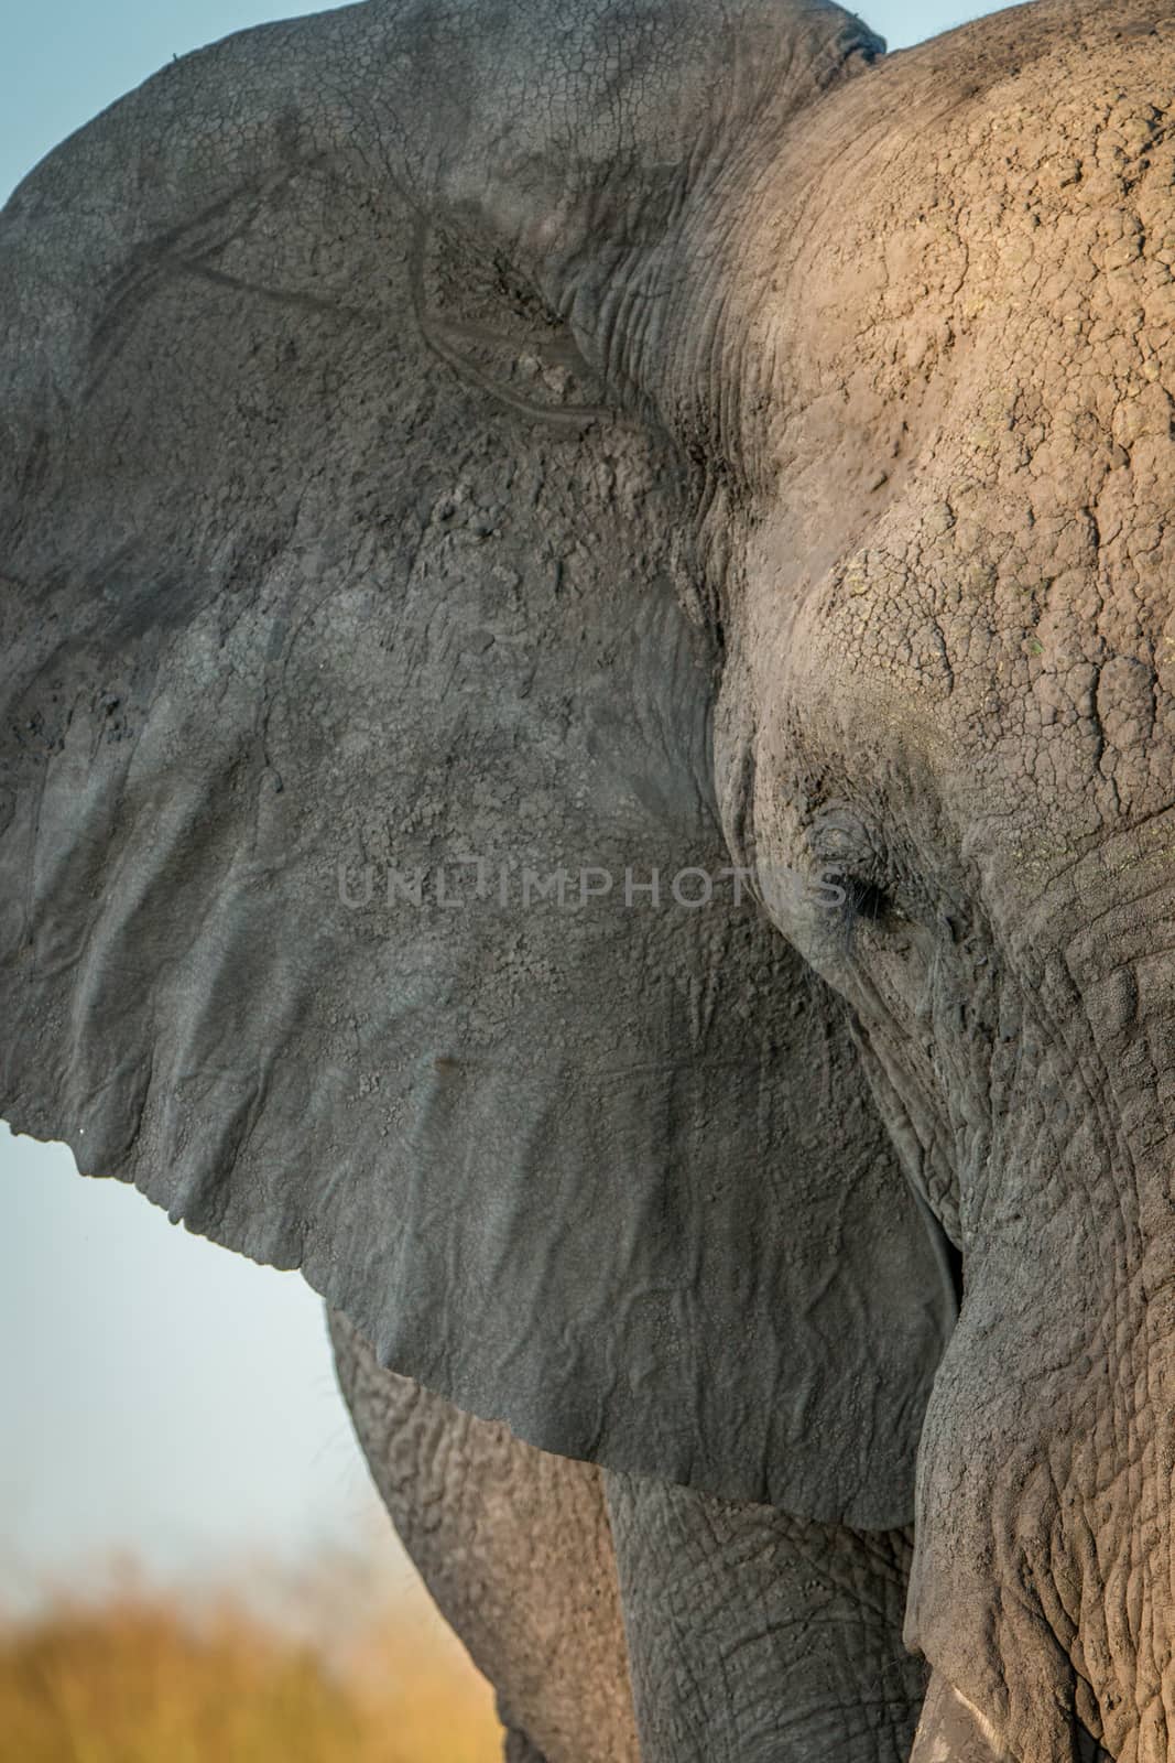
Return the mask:
<path fill-rule="evenodd" d="M 317 7 L 262 0 L 14 5 L 0 60 L 0 199 L 173 55 Z M 994 11 L 863 9 L 891 48 Z M 372 1495 L 296 1275 L 173 1229 L 62 1146 L 0 1128 L 0 1604 L 111 1548 L 162 1573 L 359 1534 Z"/>

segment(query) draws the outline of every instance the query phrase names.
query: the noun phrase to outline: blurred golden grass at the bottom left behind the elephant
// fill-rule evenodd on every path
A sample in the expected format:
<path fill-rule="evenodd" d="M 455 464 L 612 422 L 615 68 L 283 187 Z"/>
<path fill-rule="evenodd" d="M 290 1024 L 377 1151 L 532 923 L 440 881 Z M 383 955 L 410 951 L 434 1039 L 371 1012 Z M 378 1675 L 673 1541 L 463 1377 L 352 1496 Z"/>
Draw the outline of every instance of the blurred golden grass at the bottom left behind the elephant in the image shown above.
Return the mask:
<path fill-rule="evenodd" d="M 2 1763 L 499 1763 L 490 1685 L 425 1592 L 356 1608 L 329 1578 L 310 1625 L 125 1573 L 0 1618 Z"/>

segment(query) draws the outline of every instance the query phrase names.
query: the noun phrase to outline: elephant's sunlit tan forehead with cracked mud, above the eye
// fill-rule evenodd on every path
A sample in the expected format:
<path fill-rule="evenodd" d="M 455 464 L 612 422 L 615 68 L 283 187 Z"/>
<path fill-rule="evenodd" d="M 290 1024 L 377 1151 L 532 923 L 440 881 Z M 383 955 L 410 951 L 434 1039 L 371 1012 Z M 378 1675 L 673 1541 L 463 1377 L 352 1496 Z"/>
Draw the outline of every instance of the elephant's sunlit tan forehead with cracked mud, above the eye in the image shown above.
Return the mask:
<path fill-rule="evenodd" d="M 1032 11 L 1045 53 L 1015 14 L 1016 65 L 950 106 L 935 46 L 872 83 L 911 122 L 800 252 L 749 575 L 775 681 L 830 740 L 868 702 L 969 813 L 978 786 L 1073 834 L 1171 799 L 1175 33 L 1150 7 L 1119 37 L 1122 9 Z"/>

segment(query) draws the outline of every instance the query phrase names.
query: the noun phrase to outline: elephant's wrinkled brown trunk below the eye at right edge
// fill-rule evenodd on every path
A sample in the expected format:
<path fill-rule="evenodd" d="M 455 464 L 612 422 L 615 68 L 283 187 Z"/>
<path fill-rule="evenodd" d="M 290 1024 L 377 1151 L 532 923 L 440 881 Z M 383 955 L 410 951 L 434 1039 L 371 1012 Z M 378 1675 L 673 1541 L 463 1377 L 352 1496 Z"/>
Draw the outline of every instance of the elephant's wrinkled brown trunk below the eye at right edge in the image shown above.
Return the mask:
<path fill-rule="evenodd" d="M 1101 866 L 1089 933 L 1071 901 L 1062 945 L 1025 924 L 1052 952 L 1001 1001 L 921 1439 L 916 1763 L 1159 1763 L 1175 1742 L 1175 963 L 1154 876 L 1126 874 L 1129 899 Z"/>

